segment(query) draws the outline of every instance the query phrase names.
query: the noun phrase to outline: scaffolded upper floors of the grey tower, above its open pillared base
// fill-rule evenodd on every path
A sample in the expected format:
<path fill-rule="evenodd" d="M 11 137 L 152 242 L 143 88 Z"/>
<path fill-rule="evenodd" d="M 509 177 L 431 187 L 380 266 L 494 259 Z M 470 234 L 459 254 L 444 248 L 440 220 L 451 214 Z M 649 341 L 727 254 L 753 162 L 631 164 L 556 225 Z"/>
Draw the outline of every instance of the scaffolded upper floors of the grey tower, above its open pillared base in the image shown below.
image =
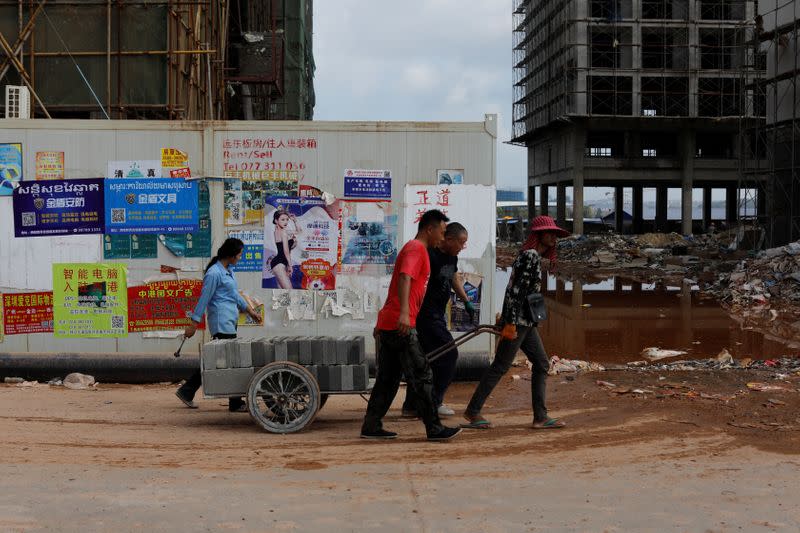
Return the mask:
<path fill-rule="evenodd" d="M 736 120 L 749 112 L 741 105 L 747 80 L 739 71 L 753 6 L 514 0 L 513 142 L 525 144 L 534 132 L 574 117 Z"/>

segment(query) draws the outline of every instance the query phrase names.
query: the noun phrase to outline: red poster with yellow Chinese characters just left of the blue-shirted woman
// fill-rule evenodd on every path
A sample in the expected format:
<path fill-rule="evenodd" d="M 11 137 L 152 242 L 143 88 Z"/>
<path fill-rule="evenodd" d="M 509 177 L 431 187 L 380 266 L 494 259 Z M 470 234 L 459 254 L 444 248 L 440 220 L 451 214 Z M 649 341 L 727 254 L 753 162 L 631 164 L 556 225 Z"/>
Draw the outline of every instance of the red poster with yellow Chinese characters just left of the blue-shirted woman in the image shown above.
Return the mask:
<path fill-rule="evenodd" d="M 183 329 L 191 315 L 203 282 L 199 279 L 155 281 L 128 287 L 128 331 Z M 199 329 L 205 329 L 205 317 Z"/>

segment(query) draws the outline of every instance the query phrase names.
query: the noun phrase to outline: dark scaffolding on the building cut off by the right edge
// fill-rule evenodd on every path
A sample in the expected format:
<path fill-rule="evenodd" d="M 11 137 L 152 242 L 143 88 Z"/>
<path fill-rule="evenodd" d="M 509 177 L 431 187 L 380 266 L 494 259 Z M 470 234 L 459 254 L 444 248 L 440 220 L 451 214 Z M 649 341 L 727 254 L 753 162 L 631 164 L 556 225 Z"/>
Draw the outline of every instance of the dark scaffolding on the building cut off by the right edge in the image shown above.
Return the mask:
<path fill-rule="evenodd" d="M 762 0 L 755 32 L 743 46 L 749 103 L 765 120 L 742 123 L 740 188 L 759 190 L 743 201 L 762 207 L 757 222 L 770 246 L 800 239 L 799 18 L 794 1 Z"/>

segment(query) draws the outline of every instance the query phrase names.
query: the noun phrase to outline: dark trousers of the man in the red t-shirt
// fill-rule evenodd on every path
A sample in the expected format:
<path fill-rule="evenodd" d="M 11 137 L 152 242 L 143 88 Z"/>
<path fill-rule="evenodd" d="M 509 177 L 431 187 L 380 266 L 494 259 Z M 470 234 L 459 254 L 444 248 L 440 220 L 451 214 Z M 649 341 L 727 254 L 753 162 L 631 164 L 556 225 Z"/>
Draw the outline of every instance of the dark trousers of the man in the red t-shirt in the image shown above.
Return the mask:
<path fill-rule="evenodd" d="M 383 429 L 381 421 L 397 396 L 400 378 L 405 373 L 408 387 L 416 395 L 416 408 L 425 423 L 427 434 L 434 435 L 443 428 L 433 403 L 433 376 L 428 360 L 422 353 L 417 331 L 408 335 L 397 331 L 379 331 L 378 375 L 369 396 L 367 414 L 361 431 L 369 433 Z"/>

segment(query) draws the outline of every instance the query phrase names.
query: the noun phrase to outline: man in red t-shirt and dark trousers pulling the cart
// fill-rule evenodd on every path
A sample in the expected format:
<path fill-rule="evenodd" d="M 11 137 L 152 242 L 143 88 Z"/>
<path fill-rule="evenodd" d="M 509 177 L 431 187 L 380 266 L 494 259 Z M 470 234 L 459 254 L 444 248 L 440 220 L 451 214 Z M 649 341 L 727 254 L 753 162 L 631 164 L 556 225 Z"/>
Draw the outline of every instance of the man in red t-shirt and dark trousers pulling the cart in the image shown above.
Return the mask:
<path fill-rule="evenodd" d="M 363 439 L 394 439 L 397 433 L 383 429 L 383 419 L 392 405 L 400 378 L 417 398 L 417 412 L 425 423 L 428 440 L 449 440 L 461 428 L 442 426 L 433 401 L 433 374 L 417 339 L 417 313 L 425 297 L 431 273 L 428 248 L 444 240 L 449 219 L 438 210 L 428 211 L 419 221 L 417 236 L 408 241 L 394 265 L 386 303 L 378 313 L 375 340 L 378 375 L 361 426 Z"/>

